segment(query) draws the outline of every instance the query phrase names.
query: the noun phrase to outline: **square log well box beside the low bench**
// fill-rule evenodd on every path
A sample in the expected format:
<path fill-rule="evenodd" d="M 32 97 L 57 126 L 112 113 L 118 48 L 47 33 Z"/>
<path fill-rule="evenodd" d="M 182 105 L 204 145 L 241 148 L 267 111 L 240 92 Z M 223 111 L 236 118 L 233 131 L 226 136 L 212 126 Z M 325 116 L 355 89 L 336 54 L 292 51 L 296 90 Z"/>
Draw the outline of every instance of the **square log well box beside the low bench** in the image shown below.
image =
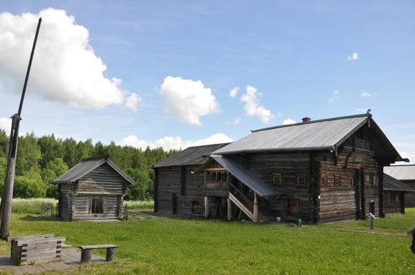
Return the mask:
<path fill-rule="evenodd" d="M 53 235 L 34 235 L 8 237 L 6 240 L 12 244 L 11 260 L 17 265 L 29 265 L 33 263 L 47 263 L 60 260 L 62 242 L 65 237 L 53 237 Z"/>

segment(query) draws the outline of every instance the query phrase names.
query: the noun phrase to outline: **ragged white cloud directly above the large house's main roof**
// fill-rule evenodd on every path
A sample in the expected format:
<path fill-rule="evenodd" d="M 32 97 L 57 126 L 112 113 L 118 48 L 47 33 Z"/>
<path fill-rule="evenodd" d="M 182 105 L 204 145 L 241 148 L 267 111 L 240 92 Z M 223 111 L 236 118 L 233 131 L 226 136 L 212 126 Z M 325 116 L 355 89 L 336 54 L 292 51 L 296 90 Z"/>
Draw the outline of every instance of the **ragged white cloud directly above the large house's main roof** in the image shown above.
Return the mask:
<path fill-rule="evenodd" d="M 259 97 L 262 97 L 261 93 L 258 93 Z M 257 116 L 264 123 L 271 121 L 275 115 L 261 105 L 257 98 L 257 88 L 253 86 L 246 86 L 246 93 L 241 96 L 241 102 L 245 102 L 245 114 L 248 117 Z"/>

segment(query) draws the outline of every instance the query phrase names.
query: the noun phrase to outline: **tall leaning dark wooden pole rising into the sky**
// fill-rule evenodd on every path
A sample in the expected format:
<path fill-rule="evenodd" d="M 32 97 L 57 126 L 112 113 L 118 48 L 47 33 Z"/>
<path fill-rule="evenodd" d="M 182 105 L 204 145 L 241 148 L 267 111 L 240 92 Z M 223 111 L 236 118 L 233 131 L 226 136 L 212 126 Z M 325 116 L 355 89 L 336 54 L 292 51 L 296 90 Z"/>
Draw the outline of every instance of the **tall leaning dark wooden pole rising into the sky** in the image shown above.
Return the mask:
<path fill-rule="evenodd" d="M 19 140 L 19 124 L 21 120 L 21 108 L 23 108 L 24 95 L 26 94 L 26 87 L 28 86 L 28 79 L 30 74 L 30 68 L 32 67 L 33 55 L 35 54 L 37 36 L 39 35 L 40 23 L 42 18 L 39 18 L 37 23 L 35 41 L 33 41 L 32 53 L 30 53 L 30 59 L 28 64 L 28 70 L 26 72 L 26 78 L 24 79 L 23 91 L 21 92 L 19 112 L 12 115 L 12 129 L 10 131 L 10 143 L 7 160 L 6 178 L 4 180 L 3 198 L 1 198 L 1 238 L 7 238 L 9 236 L 10 229 L 10 216 L 12 214 L 12 198 L 13 198 L 13 185 L 15 184 L 15 168 L 16 168 L 16 156 L 17 156 L 17 142 Z"/>

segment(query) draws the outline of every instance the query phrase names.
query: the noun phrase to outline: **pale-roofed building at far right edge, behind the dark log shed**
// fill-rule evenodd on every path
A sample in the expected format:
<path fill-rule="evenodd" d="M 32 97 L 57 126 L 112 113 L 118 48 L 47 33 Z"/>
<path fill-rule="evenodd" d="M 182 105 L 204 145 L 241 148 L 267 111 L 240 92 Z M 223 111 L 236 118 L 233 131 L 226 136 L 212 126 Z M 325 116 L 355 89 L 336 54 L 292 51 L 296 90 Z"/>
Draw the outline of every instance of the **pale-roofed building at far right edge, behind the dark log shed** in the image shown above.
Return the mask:
<path fill-rule="evenodd" d="M 385 173 L 414 189 L 414 191 L 405 193 L 405 206 L 415 206 L 415 165 L 385 167 Z"/>

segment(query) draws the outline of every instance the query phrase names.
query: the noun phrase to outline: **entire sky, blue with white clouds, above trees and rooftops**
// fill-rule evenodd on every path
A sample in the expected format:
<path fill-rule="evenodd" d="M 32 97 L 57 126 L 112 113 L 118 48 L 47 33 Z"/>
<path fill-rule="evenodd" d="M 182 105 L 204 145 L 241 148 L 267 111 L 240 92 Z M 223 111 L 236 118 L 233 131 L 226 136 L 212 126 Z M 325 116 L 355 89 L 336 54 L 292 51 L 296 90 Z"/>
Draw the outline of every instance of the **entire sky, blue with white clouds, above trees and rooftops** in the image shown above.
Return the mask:
<path fill-rule="evenodd" d="M 365 113 L 415 163 L 413 1 L 0 0 L 0 129 L 145 148 Z"/>

